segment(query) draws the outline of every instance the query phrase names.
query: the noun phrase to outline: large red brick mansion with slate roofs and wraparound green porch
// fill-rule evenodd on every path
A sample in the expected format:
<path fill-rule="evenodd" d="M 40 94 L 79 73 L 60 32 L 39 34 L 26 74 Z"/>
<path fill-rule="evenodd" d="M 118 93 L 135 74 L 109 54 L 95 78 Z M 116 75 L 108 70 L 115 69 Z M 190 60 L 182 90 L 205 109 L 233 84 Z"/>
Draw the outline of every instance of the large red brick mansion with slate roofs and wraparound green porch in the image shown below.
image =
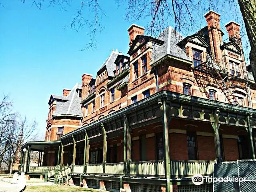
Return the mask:
<path fill-rule="evenodd" d="M 113 192 L 212 192 L 192 176 L 255 159 L 256 84 L 240 25 L 204 17 L 207 26 L 187 37 L 171 26 L 147 36 L 132 24 L 127 54 L 112 50 L 97 74 L 50 96 L 45 141 L 22 145 L 20 171 Z"/>

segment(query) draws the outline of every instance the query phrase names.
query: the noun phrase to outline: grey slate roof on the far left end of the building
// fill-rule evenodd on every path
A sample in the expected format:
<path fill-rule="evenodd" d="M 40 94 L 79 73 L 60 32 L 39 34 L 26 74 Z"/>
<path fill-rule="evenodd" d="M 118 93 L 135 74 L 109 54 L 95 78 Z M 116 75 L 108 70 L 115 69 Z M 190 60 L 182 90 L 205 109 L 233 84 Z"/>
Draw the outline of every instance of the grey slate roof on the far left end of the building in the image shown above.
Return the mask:
<path fill-rule="evenodd" d="M 56 115 L 76 115 L 82 116 L 81 110 L 81 98 L 78 97 L 77 89 L 82 88 L 80 83 L 76 83 L 72 90 L 66 97 L 57 96 L 58 98 L 64 98 L 65 101 L 56 100 L 56 110 L 53 116 Z"/>

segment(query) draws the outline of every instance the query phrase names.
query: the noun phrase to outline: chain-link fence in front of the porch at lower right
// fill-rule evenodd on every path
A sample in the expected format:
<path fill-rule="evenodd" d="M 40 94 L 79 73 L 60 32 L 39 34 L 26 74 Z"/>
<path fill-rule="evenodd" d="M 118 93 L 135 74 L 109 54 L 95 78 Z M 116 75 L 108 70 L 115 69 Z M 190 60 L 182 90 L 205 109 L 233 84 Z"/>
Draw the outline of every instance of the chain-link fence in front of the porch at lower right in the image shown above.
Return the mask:
<path fill-rule="evenodd" d="M 256 160 L 216 163 L 214 178 L 214 192 L 256 192 Z"/>

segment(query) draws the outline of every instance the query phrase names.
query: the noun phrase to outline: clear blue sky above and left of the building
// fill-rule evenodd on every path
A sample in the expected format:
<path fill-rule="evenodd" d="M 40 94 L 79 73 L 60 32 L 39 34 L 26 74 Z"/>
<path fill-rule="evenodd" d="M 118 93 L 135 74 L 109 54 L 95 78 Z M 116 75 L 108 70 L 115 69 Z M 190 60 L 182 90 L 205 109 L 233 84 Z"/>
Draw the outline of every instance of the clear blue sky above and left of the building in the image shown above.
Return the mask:
<path fill-rule="evenodd" d="M 62 95 L 63 88 L 72 88 L 81 82 L 83 73 L 95 77 L 112 49 L 118 48 L 126 54 L 127 29 L 134 21 L 124 20 L 126 9 L 118 7 L 114 0 L 101 3 L 106 18 L 102 18 L 104 30 L 96 34 L 97 48 L 80 51 L 89 41 L 88 29 L 76 32 L 64 28 L 70 24 L 75 7 L 63 12 L 58 7 L 46 6 L 38 10 L 30 1 L 4 0 L 2 3 L 0 97 L 10 94 L 14 110 L 30 121 L 36 119 L 38 130 L 44 136 L 50 95 Z M 225 22 L 228 20 L 223 19 L 222 23 Z M 136 24 L 146 26 L 147 20 L 136 21 Z"/>

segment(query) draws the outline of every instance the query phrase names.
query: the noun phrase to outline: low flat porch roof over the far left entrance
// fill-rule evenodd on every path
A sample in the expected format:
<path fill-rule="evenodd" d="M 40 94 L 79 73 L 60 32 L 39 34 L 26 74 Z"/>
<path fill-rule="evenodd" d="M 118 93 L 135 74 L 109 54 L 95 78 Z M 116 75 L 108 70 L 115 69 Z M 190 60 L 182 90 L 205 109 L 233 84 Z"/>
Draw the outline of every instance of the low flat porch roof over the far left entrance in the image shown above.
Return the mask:
<path fill-rule="evenodd" d="M 60 146 L 60 140 L 58 141 L 29 141 L 21 146 L 21 149 L 31 146 L 32 151 L 43 151 L 46 147 Z"/>

